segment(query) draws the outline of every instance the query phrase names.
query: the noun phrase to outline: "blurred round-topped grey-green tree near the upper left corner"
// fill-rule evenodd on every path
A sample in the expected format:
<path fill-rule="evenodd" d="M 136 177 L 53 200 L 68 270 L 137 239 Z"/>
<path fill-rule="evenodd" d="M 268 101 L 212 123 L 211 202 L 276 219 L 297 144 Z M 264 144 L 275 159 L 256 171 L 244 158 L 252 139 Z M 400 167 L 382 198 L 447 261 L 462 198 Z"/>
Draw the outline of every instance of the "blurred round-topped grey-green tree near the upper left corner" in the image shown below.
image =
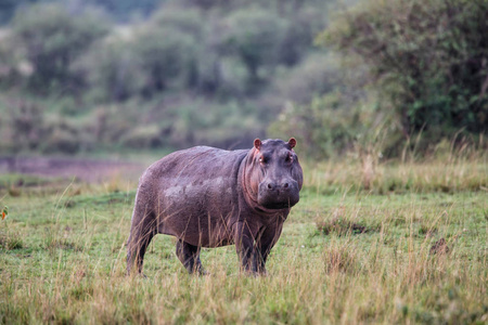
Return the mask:
<path fill-rule="evenodd" d="M 99 12 L 69 13 L 54 3 L 21 10 L 13 21 L 13 34 L 25 47 L 33 66 L 30 89 L 48 92 L 77 86 L 80 80 L 70 70 L 72 63 L 107 31 L 106 18 Z"/>

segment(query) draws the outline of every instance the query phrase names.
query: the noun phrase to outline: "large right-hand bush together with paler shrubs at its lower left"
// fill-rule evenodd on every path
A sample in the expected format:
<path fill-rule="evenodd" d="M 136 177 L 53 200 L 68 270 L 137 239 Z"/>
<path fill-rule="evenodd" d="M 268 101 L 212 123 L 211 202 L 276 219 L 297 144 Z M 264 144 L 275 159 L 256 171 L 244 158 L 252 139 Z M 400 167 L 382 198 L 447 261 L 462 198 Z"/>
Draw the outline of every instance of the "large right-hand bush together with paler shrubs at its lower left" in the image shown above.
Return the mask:
<path fill-rule="evenodd" d="M 400 155 L 447 139 L 486 146 L 488 1 L 364 1 L 317 42 L 342 57 L 333 92 L 290 105 L 272 125 L 311 155 L 361 148 Z M 298 121 L 294 123 L 292 121 Z"/>

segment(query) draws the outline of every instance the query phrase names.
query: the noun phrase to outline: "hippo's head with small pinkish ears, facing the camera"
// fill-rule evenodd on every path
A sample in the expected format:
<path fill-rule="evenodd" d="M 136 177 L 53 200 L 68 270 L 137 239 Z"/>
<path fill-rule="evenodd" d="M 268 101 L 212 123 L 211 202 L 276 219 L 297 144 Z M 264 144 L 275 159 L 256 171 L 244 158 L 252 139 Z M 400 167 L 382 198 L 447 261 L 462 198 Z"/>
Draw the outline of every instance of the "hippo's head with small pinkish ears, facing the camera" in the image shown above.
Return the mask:
<path fill-rule="evenodd" d="M 254 141 L 246 183 L 253 200 L 266 209 L 285 209 L 296 205 L 303 184 L 303 171 L 293 147 L 294 138 Z"/>

